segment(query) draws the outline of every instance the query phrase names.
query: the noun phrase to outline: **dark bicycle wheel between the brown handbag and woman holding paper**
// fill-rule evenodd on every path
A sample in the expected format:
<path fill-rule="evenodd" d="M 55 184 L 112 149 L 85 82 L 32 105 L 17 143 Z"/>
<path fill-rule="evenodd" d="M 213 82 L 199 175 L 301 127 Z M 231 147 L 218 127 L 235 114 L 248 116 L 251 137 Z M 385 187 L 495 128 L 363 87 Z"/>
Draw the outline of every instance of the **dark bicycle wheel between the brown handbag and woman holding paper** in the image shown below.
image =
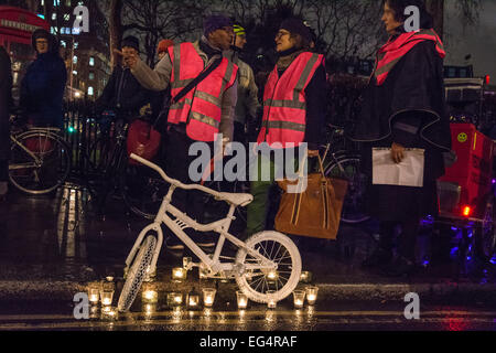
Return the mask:
<path fill-rule="evenodd" d="M 334 158 L 326 168 L 325 175 L 345 179 L 349 182 L 348 192 L 343 203 L 342 222 L 358 224 L 368 221 L 370 216 L 365 211 L 367 176 L 360 173 L 360 158 L 346 154 Z"/>

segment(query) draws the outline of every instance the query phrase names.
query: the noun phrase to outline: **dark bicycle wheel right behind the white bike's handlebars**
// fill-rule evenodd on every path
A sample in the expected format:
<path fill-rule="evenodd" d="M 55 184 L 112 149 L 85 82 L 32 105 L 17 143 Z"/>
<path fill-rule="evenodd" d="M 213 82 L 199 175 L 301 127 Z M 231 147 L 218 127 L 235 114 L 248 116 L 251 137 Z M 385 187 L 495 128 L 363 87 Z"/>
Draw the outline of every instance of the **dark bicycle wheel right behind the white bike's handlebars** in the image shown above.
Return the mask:
<path fill-rule="evenodd" d="M 136 215 L 154 220 L 169 191 L 169 183 L 141 165 L 129 164 L 120 178 L 120 191 L 126 205 Z"/>

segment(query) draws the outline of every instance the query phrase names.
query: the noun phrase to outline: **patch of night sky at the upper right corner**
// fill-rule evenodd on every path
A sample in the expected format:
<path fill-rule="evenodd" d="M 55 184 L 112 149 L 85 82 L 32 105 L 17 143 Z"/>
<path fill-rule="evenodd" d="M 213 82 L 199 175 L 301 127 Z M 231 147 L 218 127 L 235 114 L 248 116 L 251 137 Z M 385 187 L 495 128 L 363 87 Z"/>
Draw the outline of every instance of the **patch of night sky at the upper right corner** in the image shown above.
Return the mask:
<path fill-rule="evenodd" d="M 445 42 L 446 65 L 464 65 L 465 56 L 472 54 L 468 64 L 474 65 L 476 76 L 489 74 L 492 84 L 496 82 L 496 1 L 482 0 L 479 21 L 463 29 L 456 17 L 454 0 L 446 1 Z"/>

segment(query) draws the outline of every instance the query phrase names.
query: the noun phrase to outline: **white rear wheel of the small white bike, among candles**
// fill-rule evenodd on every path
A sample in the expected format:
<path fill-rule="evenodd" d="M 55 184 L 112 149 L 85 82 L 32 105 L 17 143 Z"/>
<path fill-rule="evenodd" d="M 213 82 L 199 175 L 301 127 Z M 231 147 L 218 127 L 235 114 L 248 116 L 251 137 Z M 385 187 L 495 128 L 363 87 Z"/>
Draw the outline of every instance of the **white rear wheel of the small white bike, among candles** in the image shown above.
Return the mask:
<path fill-rule="evenodd" d="M 290 296 L 300 281 L 301 255 L 294 243 L 278 232 L 262 232 L 246 242 L 249 248 L 260 253 L 278 265 L 277 276 L 269 278 L 270 270 L 247 269 L 242 274 L 236 271 L 235 278 L 239 289 L 252 301 L 267 303 L 269 299 L 277 301 Z M 241 266 L 258 265 L 259 259 L 240 249 L 236 256 L 236 264 Z M 273 295 L 267 291 L 273 290 Z"/>

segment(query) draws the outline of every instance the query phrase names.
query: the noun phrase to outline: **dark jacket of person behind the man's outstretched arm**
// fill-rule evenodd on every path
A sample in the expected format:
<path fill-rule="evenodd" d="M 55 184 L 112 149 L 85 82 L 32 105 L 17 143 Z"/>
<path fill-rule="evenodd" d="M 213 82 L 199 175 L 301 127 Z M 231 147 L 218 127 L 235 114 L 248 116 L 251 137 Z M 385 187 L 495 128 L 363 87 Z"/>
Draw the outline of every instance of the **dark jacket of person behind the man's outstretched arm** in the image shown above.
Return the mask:
<path fill-rule="evenodd" d="M 151 93 L 144 89 L 129 68 L 116 66 L 104 93 L 97 100 L 100 110 L 136 116 L 141 107 L 151 101 Z"/>

